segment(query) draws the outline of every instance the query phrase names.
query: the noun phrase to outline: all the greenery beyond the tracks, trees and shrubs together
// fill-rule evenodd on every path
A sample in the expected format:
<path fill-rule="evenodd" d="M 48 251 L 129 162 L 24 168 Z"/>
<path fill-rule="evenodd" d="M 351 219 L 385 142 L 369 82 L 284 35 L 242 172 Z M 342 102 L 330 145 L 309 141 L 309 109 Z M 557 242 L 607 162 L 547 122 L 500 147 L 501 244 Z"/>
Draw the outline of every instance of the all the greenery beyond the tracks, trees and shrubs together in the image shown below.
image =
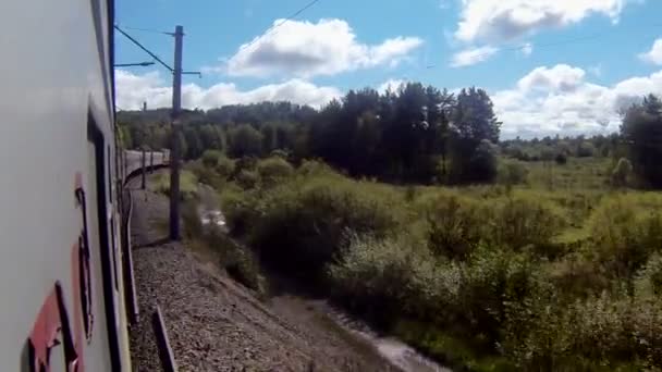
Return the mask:
<path fill-rule="evenodd" d="M 167 110 L 118 120 L 125 147 L 168 147 Z M 660 99 L 611 135 L 500 126 L 485 90 L 420 84 L 187 111 L 182 198 L 217 190 L 252 251 L 207 240 L 248 287 L 260 261 L 454 369 L 662 368 Z"/>

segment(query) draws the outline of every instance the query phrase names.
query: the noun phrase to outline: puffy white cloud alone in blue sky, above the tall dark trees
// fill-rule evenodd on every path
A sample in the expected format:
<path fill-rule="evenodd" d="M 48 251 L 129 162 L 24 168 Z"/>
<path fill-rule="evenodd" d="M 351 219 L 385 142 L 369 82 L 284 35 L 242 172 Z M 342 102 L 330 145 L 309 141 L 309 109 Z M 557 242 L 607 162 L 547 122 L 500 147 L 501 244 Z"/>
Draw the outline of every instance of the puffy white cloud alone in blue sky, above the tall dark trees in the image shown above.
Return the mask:
<path fill-rule="evenodd" d="M 387 39 L 379 45 L 358 42 L 352 27 L 343 20 L 274 21 L 281 24 L 268 35 L 243 45 L 228 60 L 224 70 L 231 76 L 334 75 L 379 65 L 394 66 L 422 45 L 417 37 Z"/>

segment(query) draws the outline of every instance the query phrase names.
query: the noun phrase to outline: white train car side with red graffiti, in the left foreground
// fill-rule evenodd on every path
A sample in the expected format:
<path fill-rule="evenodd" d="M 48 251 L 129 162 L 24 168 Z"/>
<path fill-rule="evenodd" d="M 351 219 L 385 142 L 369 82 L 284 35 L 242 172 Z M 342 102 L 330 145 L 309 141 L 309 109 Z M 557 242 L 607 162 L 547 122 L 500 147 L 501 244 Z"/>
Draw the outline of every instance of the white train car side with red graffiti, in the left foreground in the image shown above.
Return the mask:
<path fill-rule="evenodd" d="M 0 370 L 130 371 L 113 1 L 0 17 Z"/>

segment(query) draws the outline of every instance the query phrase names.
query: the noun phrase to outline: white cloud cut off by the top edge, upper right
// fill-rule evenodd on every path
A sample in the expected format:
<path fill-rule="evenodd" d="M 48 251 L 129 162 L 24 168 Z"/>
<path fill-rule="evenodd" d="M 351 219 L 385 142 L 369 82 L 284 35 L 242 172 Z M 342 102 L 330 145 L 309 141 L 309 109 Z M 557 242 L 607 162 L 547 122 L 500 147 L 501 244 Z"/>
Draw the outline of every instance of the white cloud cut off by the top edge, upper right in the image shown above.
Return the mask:
<path fill-rule="evenodd" d="M 507 40 L 541 28 L 575 24 L 592 14 L 613 22 L 634 0 L 462 0 L 455 37 L 462 41 Z"/>

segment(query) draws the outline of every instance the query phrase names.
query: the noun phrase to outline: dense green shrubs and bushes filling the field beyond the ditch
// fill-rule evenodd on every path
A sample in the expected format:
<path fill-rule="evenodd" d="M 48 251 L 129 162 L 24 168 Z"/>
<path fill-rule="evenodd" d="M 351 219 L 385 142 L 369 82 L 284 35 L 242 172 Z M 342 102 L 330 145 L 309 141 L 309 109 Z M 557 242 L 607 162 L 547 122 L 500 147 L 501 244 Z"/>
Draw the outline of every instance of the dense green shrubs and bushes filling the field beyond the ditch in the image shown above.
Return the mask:
<path fill-rule="evenodd" d="M 606 163 L 571 158 L 554 182 Z M 307 161 L 226 187 L 223 209 L 267 263 L 458 369 L 662 365 L 662 198 L 528 184 L 393 187 Z"/>

